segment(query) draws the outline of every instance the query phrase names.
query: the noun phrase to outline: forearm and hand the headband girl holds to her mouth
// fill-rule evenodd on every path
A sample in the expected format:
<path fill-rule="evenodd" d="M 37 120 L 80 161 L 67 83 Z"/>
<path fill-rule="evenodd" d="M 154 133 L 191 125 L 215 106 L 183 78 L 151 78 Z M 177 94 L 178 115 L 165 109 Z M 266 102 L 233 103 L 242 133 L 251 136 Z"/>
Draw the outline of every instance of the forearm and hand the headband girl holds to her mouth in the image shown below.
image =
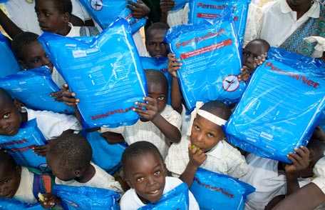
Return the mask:
<path fill-rule="evenodd" d="M 205 162 L 207 154 L 194 145 L 189 146 L 188 154 L 190 156 L 190 161 L 188 162 L 185 171 L 180 175 L 180 180 L 184 181 L 187 186 L 190 187 L 194 181 L 197 168 Z"/>

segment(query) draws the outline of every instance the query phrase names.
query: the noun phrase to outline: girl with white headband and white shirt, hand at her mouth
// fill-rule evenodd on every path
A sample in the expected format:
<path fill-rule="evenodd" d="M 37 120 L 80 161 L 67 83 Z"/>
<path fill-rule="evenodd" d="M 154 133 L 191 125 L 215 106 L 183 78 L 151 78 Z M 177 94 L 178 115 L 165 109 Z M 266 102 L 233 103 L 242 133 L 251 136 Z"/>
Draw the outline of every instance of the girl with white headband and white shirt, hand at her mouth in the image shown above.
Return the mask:
<path fill-rule="evenodd" d="M 248 171 L 244 156 L 227 143 L 222 130 L 230 115 L 229 107 L 220 101 L 197 107 L 192 112 L 194 121 L 189 136 L 170 146 L 165 161 L 167 169 L 188 186 L 192 185 L 198 167 L 235 178 L 244 176 Z"/>

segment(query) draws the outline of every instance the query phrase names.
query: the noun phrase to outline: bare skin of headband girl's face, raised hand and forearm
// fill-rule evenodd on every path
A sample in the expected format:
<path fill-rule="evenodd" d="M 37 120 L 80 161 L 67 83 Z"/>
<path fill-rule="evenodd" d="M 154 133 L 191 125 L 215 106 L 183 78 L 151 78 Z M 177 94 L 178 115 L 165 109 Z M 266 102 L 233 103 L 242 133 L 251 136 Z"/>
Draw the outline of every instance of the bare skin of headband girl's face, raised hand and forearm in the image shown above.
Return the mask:
<path fill-rule="evenodd" d="M 214 148 L 224 138 L 225 134 L 221 126 L 212 123 L 202 116 L 195 118 L 190 135 L 191 144 L 188 148 L 190 161 L 180 176 L 180 179 L 189 187 L 193 183 L 197 169 L 207 159 L 207 154 L 205 153 Z"/>

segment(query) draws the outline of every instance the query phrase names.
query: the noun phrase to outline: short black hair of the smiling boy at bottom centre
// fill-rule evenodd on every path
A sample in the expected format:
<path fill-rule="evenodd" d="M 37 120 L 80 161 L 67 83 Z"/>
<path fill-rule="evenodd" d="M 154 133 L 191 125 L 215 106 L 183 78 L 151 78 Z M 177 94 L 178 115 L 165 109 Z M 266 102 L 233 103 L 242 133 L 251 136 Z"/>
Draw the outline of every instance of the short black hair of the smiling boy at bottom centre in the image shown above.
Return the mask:
<path fill-rule="evenodd" d="M 141 156 L 143 154 L 153 154 L 158 155 L 162 162 L 164 162 L 164 159 L 162 158 L 162 155 L 160 154 L 160 151 L 158 150 L 157 146 L 150 143 L 149 141 L 137 141 L 128 148 L 125 149 L 122 155 L 122 166 L 123 171 L 125 172 L 126 169 L 126 163 L 128 160 L 133 159 L 137 156 Z"/>

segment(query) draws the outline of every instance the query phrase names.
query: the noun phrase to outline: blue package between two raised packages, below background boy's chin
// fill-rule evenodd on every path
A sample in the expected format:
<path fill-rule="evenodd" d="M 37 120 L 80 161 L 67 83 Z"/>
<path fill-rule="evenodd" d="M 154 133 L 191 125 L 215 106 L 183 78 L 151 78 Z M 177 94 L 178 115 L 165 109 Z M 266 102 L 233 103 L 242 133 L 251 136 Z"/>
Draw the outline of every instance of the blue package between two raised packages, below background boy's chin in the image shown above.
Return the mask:
<path fill-rule="evenodd" d="M 153 57 L 140 57 L 143 69 L 153 69 L 161 71 L 168 83 L 168 99 L 167 104 L 171 104 L 171 91 L 172 91 L 172 76 L 168 73 L 168 58 L 153 58 Z"/>

